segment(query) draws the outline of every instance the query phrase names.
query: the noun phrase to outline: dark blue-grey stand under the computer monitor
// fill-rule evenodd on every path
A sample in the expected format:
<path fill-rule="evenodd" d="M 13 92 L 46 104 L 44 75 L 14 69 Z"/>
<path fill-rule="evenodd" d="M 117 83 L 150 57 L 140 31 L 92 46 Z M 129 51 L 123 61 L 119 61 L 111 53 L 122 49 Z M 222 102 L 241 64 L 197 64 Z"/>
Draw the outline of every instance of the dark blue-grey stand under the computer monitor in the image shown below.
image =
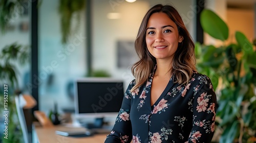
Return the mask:
<path fill-rule="evenodd" d="M 106 128 L 104 125 L 108 125 L 108 122 L 104 122 L 104 118 L 95 118 L 94 123 L 88 123 L 85 125 L 93 134 L 108 134 L 112 129 Z"/>

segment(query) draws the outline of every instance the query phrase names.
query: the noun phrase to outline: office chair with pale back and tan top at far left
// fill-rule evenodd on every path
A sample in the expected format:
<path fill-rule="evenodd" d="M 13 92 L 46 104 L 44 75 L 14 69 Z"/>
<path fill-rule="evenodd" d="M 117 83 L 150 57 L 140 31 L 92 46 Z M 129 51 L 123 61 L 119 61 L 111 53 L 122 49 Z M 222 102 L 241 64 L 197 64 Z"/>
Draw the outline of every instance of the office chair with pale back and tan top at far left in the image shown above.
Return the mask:
<path fill-rule="evenodd" d="M 30 95 L 18 94 L 17 96 L 15 96 L 15 104 L 16 104 L 19 124 L 20 124 L 20 127 L 22 128 L 24 143 L 29 143 L 28 129 L 27 129 L 27 124 L 26 124 L 23 109 L 31 109 L 37 103 L 35 99 Z"/>

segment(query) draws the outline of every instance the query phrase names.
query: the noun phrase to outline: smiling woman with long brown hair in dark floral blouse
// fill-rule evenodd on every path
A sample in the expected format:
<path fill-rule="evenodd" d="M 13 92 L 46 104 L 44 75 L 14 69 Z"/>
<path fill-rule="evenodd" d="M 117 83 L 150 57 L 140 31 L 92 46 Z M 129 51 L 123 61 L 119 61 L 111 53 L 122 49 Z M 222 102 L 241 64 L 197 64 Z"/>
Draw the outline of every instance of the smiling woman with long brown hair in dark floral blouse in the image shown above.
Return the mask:
<path fill-rule="evenodd" d="M 196 71 L 195 45 L 177 10 L 152 7 L 135 49 L 135 80 L 105 142 L 210 142 L 216 94 L 210 79 Z"/>

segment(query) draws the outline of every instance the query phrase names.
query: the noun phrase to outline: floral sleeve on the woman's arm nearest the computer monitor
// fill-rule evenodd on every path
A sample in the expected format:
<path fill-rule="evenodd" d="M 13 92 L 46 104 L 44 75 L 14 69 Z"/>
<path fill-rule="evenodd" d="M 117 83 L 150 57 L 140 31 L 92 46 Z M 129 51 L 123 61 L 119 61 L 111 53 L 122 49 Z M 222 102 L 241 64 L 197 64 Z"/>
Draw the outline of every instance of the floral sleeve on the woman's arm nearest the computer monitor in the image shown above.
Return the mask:
<path fill-rule="evenodd" d="M 127 87 L 121 109 L 116 117 L 115 125 L 112 132 L 107 135 L 105 143 L 115 142 L 131 142 L 132 140 L 132 125 L 130 120 L 131 111 L 131 88 L 134 85 L 134 81 Z"/>

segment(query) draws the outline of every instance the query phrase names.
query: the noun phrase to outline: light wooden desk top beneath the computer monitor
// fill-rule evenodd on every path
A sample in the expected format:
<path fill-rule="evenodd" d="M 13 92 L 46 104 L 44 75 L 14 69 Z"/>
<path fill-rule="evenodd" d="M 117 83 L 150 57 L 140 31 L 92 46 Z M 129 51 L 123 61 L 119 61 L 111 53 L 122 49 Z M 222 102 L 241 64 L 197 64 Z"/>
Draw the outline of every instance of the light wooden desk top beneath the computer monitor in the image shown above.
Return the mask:
<path fill-rule="evenodd" d="M 96 134 L 89 137 L 69 137 L 55 134 L 56 130 L 65 130 L 65 126 L 41 127 L 33 124 L 33 143 L 76 143 L 76 142 L 92 142 L 102 143 L 106 138 L 106 134 Z"/>

